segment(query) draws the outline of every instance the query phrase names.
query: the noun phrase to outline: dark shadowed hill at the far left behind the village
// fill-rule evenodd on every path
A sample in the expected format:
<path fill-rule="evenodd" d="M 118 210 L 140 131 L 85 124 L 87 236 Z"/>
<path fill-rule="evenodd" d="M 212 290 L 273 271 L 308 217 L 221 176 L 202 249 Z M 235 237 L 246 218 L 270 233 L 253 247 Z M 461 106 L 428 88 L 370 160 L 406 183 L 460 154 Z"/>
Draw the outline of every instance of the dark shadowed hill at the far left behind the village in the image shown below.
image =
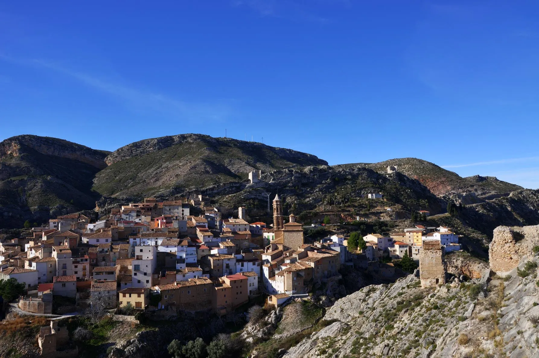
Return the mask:
<path fill-rule="evenodd" d="M 92 178 L 107 154 L 35 135 L 0 142 L 0 229 L 92 208 Z"/>

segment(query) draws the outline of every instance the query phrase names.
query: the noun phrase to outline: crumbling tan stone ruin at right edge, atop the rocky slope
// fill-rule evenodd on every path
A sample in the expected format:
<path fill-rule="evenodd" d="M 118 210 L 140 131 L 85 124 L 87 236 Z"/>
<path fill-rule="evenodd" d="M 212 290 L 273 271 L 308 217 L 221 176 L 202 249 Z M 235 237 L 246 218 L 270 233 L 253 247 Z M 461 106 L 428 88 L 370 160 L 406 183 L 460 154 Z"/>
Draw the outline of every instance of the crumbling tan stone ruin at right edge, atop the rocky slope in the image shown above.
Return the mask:
<path fill-rule="evenodd" d="M 490 268 L 495 272 L 513 270 L 524 256 L 533 254 L 536 245 L 539 245 L 539 225 L 498 226 L 488 249 Z"/>

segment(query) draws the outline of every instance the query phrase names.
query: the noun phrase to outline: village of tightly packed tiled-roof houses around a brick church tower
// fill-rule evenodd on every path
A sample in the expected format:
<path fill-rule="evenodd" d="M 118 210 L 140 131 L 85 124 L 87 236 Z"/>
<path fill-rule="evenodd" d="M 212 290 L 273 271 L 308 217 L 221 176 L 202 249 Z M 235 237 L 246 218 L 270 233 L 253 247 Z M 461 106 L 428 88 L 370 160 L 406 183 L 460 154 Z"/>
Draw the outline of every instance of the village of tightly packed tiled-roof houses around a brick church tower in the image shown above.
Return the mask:
<path fill-rule="evenodd" d="M 204 214 L 190 215 L 194 206 Z M 222 315 L 260 294 L 274 305 L 307 294 L 315 282 L 341 279 L 343 265 L 391 276 L 395 267 L 385 258 L 420 261 L 423 251 L 436 252 L 443 267 L 443 253 L 460 249 L 449 228 L 422 225 L 387 237 L 366 235 L 359 250 L 349 251 L 342 235 L 307 242 L 302 224 L 294 214 L 282 215 L 282 206 L 276 195 L 269 225 L 245 221 L 244 207 L 238 217 L 223 218 L 201 196 L 146 198 L 96 222 L 81 214 L 59 216 L 32 228 L 32 237 L 0 244 L 0 279 L 24 283 L 29 295 L 18 305 L 34 313 L 51 313 L 52 298 L 62 296 L 104 308 Z M 443 279 L 440 269 L 424 271 L 438 271 L 434 284 Z"/>

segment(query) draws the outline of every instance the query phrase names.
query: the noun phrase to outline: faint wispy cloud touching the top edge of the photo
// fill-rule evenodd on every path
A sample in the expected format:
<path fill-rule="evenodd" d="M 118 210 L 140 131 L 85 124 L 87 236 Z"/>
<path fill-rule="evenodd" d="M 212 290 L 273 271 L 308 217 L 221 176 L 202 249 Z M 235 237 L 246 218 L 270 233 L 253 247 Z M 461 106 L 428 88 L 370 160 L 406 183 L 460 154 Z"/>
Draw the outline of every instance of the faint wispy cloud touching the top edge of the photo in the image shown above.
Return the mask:
<path fill-rule="evenodd" d="M 310 12 L 306 6 L 289 0 L 234 0 L 233 6 L 244 6 L 262 17 L 277 17 L 294 21 L 327 23 L 329 19 Z"/>

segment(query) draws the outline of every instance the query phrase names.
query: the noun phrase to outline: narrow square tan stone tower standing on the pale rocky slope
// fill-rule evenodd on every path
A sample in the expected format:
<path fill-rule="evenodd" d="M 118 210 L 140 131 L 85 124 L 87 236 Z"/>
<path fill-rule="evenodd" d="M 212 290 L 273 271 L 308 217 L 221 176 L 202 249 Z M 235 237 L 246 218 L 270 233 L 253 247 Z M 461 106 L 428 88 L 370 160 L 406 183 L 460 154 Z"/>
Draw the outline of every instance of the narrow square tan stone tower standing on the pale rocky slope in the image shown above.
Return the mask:
<path fill-rule="evenodd" d="M 445 285 L 444 251 L 440 240 L 424 240 L 419 253 L 421 287 Z"/>

